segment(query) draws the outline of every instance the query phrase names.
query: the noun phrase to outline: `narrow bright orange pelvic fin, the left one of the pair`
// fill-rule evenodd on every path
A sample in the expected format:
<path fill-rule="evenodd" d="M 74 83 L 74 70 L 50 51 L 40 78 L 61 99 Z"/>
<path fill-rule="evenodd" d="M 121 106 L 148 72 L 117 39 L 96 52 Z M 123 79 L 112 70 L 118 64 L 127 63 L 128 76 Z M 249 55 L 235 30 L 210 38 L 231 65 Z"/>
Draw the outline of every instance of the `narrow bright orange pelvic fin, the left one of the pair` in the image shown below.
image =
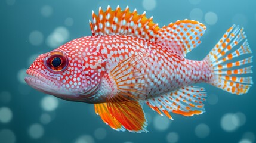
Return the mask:
<path fill-rule="evenodd" d="M 106 103 L 101 104 L 94 104 L 95 113 L 98 114 L 104 123 L 109 125 L 112 129 L 118 131 L 125 131 L 125 128 L 115 119 L 110 113 L 109 109 L 107 108 Z"/>

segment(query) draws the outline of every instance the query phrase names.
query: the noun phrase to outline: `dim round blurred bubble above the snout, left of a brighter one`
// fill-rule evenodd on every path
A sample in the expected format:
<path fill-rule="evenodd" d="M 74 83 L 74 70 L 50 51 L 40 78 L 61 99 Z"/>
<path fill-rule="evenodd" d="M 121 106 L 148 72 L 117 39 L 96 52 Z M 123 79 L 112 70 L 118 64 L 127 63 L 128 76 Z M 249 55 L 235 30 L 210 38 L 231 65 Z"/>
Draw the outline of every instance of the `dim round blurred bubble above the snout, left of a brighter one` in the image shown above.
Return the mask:
<path fill-rule="evenodd" d="M 32 31 L 29 34 L 29 42 L 33 46 L 41 45 L 41 43 L 44 41 L 44 35 L 39 32 L 38 30 Z"/>

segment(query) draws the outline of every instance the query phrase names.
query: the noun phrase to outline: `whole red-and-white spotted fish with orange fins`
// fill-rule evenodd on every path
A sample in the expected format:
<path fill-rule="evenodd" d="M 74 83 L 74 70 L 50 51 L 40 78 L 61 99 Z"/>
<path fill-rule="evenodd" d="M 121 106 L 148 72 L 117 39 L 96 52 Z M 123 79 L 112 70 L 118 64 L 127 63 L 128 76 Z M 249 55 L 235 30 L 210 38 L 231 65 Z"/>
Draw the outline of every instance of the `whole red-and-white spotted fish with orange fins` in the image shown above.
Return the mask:
<path fill-rule="evenodd" d="M 199 46 L 206 26 L 177 20 L 159 27 L 137 10 L 99 8 L 89 20 L 92 36 L 73 39 L 39 55 L 27 69 L 32 88 L 67 101 L 94 104 L 95 113 L 118 131 L 148 132 L 143 105 L 171 114 L 205 113 L 208 83 L 230 94 L 253 85 L 252 51 L 235 24 L 203 60 L 186 54 Z M 245 55 L 245 56 L 244 56 Z"/>

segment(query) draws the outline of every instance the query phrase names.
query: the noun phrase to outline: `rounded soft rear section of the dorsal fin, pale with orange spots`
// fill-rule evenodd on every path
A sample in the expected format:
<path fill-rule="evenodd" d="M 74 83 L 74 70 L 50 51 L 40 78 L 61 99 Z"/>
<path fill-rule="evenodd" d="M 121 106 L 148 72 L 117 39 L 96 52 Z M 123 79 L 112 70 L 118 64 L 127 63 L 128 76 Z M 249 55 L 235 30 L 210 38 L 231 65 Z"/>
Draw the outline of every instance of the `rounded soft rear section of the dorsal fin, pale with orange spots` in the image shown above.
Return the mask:
<path fill-rule="evenodd" d="M 206 27 L 194 20 L 178 20 L 159 29 L 156 42 L 182 56 L 201 43 Z"/>

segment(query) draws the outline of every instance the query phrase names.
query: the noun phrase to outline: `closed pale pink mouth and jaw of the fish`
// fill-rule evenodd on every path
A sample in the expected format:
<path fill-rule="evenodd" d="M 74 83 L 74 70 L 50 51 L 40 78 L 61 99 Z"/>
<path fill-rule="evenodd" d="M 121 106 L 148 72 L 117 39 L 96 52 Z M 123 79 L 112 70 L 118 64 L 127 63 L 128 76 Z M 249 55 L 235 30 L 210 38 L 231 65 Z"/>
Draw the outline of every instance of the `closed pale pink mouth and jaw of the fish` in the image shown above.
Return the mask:
<path fill-rule="evenodd" d="M 32 86 L 32 88 L 52 95 L 60 90 L 60 83 L 57 80 L 45 77 L 38 71 L 32 69 L 27 69 L 26 73 L 28 76 L 25 77 L 25 82 L 29 86 Z"/>

